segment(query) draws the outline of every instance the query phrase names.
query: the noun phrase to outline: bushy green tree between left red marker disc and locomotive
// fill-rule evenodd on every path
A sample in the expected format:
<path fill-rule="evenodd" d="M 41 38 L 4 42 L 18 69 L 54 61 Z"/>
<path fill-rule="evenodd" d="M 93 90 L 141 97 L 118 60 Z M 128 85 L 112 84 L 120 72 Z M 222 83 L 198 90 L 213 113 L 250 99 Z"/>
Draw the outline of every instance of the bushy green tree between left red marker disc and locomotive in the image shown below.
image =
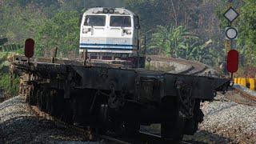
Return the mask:
<path fill-rule="evenodd" d="M 36 53 L 43 54 L 58 47 L 67 54 L 70 50 L 78 51 L 79 47 L 79 14 L 77 11 L 59 11 L 43 26 L 39 26 L 36 36 Z"/>

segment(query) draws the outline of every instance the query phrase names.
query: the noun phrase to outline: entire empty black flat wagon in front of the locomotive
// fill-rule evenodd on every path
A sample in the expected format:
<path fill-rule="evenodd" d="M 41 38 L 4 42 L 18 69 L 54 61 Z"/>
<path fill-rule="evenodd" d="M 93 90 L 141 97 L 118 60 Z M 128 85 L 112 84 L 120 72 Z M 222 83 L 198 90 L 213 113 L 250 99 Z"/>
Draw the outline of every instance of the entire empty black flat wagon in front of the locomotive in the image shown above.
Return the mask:
<path fill-rule="evenodd" d="M 140 124 L 162 122 L 166 126 L 163 138 L 177 140 L 183 132 L 171 135 L 170 130 L 179 126 L 184 134 L 194 134 L 203 117 L 200 102 L 213 100 L 216 91 L 230 86 L 230 79 L 210 75 L 58 58 L 27 62 L 24 57 L 14 57 L 10 74 L 21 76 L 20 94 L 26 102 L 64 122 L 82 126 L 97 122 L 102 130 L 121 133 L 129 126 L 132 132 Z"/>

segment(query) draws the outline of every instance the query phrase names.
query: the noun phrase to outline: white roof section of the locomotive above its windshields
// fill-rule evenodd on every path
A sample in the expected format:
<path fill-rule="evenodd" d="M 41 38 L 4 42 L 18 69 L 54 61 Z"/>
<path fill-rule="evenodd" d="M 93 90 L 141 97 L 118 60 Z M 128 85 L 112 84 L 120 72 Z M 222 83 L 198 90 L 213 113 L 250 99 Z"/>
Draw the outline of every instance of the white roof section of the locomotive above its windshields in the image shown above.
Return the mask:
<path fill-rule="evenodd" d="M 125 14 L 125 15 L 137 15 L 132 11 L 127 10 L 125 8 L 112 8 L 112 7 L 93 7 L 88 10 L 84 14 L 104 14 L 103 9 L 114 9 L 114 14 Z"/>

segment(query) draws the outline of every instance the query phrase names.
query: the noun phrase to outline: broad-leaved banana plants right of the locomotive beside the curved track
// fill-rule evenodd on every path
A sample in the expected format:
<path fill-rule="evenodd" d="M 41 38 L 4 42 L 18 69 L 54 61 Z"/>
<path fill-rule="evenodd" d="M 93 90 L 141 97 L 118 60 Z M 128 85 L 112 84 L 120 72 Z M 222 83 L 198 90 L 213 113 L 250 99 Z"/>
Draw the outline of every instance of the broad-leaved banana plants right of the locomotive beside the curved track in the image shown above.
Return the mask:
<path fill-rule="evenodd" d="M 156 32 L 152 34 L 150 49 L 174 58 L 215 65 L 219 62 L 219 56 L 223 57 L 223 52 L 217 52 L 213 43 L 211 39 L 204 41 L 190 34 L 184 26 L 157 26 Z"/>

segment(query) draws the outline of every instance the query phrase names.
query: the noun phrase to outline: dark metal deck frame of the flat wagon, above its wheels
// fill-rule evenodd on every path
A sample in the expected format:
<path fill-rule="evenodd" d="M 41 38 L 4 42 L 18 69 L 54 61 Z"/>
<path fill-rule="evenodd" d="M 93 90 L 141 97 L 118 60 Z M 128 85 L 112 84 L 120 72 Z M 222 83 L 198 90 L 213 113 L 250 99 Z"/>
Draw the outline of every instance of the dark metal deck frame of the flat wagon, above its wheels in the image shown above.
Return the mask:
<path fill-rule="evenodd" d="M 39 62 L 40 61 L 40 62 Z M 153 70 L 120 68 L 113 64 L 89 63 L 82 61 L 58 60 L 50 58 L 34 59 L 34 62 L 14 58 L 14 69 L 50 79 L 49 86 L 69 89 L 126 91 L 138 100 L 160 102 L 165 96 L 178 96 L 176 82 L 182 82 L 182 93 L 193 98 L 212 99 L 214 92 L 225 90 L 230 79 L 195 76 L 188 74 L 169 74 Z M 192 73 L 194 74 L 194 73 Z M 68 98 L 68 96 L 66 96 Z"/>

